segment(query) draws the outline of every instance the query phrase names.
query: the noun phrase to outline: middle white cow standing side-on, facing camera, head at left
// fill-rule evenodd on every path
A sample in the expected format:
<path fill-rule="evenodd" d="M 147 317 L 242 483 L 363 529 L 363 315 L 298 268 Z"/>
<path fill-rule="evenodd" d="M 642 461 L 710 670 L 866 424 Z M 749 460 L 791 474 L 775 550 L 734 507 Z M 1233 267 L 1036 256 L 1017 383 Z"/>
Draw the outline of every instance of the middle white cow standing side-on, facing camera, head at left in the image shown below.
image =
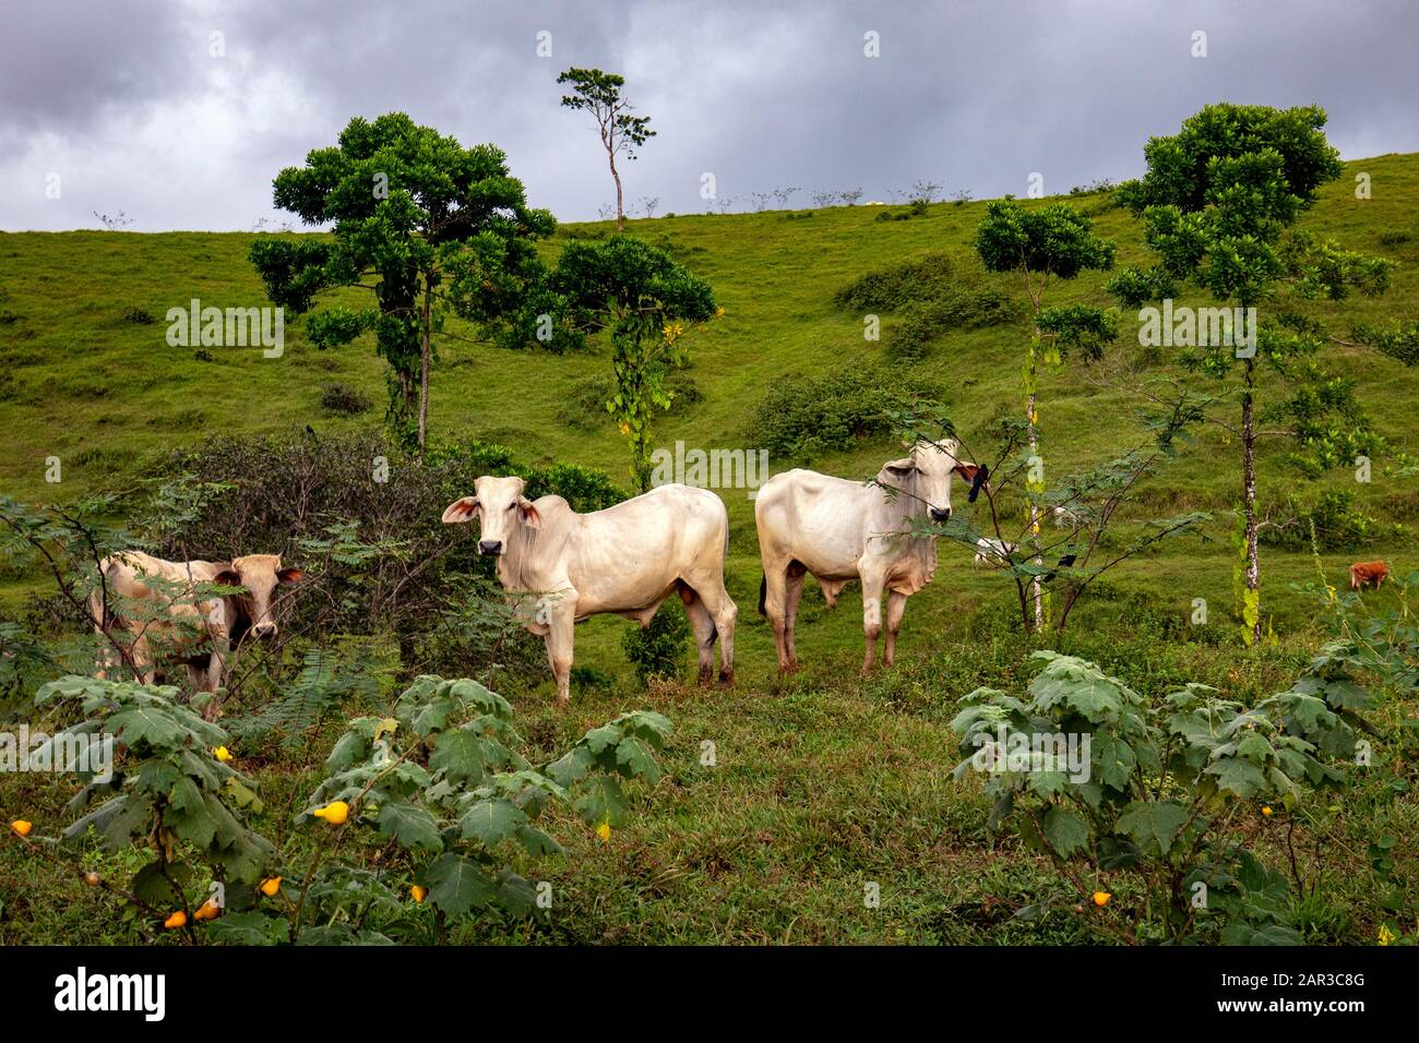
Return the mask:
<path fill-rule="evenodd" d="M 509 600 L 535 596 L 525 623 L 546 640 L 556 697 L 570 698 L 572 626 L 613 612 L 644 629 L 671 593 L 680 593 L 700 644 L 700 680 L 714 670 L 734 683 L 734 622 L 738 607 L 724 589 L 729 515 L 710 490 L 660 485 L 604 511 L 576 514 L 562 497 L 536 502 L 522 478 L 482 477 L 474 495 L 448 505 L 446 524 L 478 518 L 478 553 L 498 555 L 498 579 Z"/>

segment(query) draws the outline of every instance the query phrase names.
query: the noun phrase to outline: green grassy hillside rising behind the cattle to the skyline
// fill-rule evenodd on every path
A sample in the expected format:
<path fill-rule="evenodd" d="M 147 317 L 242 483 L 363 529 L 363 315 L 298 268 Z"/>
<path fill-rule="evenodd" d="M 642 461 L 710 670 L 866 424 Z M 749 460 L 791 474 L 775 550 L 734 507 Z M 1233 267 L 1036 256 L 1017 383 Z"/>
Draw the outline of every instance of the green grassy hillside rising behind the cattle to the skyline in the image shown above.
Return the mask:
<path fill-rule="evenodd" d="M 1354 199 L 1354 173 L 1361 170 L 1374 183 L 1371 200 Z M 1419 311 L 1416 197 L 1419 156 L 1357 160 L 1304 219 L 1305 230 L 1401 263 L 1388 295 L 1317 308 L 1334 332 L 1345 335 L 1358 321 L 1388 321 Z M 1107 209 L 1101 194 L 1076 202 L 1095 216 L 1103 236 L 1120 243 L 1120 264 L 1144 257 L 1138 223 L 1125 211 Z M 925 359 L 908 365 L 887 356 L 893 316 L 884 316 L 883 341 L 867 342 L 861 315 L 833 304 L 834 291 L 853 278 L 929 251 L 945 253 L 969 268 L 971 240 L 982 211 L 983 203 L 939 203 L 928 214 L 904 221 L 876 220 L 881 209 L 864 206 L 832 207 L 810 216 L 771 211 L 631 221 L 633 234 L 667 245 L 707 278 L 725 308 L 721 321 L 691 333 L 690 379 L 700 400 L 667 416 L 658 424 L 657 443 L 673 446 L 683 438 L 701 448 L 752 447 L 749 423 L 769 387 L 785 377 L 858 362 L 895 366 L 907 383 L 942 387 L 952 417 L 966 431 L 992 416 L 1019 413 L 1020 345 L 1027 335 L 1023 322 L 952 332 Z M 607 227 L 563 226 L 559 241 L 548 250 L 556 251 L 568 236 L 604 234 Z M 145 463 L 159 450 L 211 433 L 254 434 L 304 424 L 324 431 L 377 421 L 385 402 L 383 370 L 369 338 L 319 352 L 307 343 L 301 324 L 292 322 L 280 359 L 265 359 L 253 348 L 216 348 L 199 360 L 193 348 L 166 343 L 165 312 L 184 307 L 193 297 L 217 307 L 264 304 L 261 284 L 245 260 L 251 240 L 247 234 L 203 233 L 0 234 L 0 424 L 7 436 L 0 484 L 7 492 L 65 500 L 81 491 L 121 487 L 142 477 Z M 993 281 L 1017 292 L 1009 280 Z M 1101 282 L 1098 275 L 1086 275 L 1076 284 L 1059 284 L 1050 299 L 1107 302 Z M 155 321 L 132 321 L 142 316 Z M 1117 349 L 1121 356 L 1138 355 L 1131 343 L 1134 331 L 1125 321 Z M 1396 450 L 1419 450 L 1408 423 L 1419 375 L 1369 352 L 1335 348 L 1334 355 L 1327 362 L 1355 380 L 1378 430 Z M 617 481 L 627 481 L 624 441 L 587 400 L 589 382 L 607 373 L 603 349 L 559 358 L 450 342 L 433 377 L 431 431 L 436 437 L 499 441 L 532 463 L 568 460 L 600 467 Z M 358 420 L 326 414 L 321 393 L 333 382 L 363 390 L 375 409 Z M 1141 437 L 1134 419 L 1137 403 L 1100 386 L 1077 365 L 1046 375 L 1042 403 L 1054 474 L 1121 451 Z M 587 421 L 566 423 L 569 410 L 586 412 Z M 1391 482 L 1382 467 L 1368 487 L 1357 485 L 1348 473 L 1310 481 L 1284 460 L 1284 444 L 1273 441 L 1266 453 L 1263 504 L 1284 504 L 1291 494 L 1305 500 L 1320 488 L 1348 488 L 1362 511 L 1382 521 L 1413 522 L 1419 515 L 1413 491 Z M 58 487 L 44 482 L 45 458 L 51 456 L 58 456 L 64 467 Z M 876 438 L 812 464 L 866 477 L 891 456 L 897 456 L 895 444 Z M 1159 514 L 1229 511 L 1236 500 L 1236 447 L 1225 444 L 1219 431 L 1203 431 L 1155 482 L 1159 491 L 1154 507 Z M 771 467 L 778 471 L 799 463 L 773 458 Z M 731 590 L 748 609 L 745 623 L 752 631 L 753 620 L 748 617 L 758 587 L 752 504 L 732 490 L 725 500 L 732 524 Z M 1216 542 L 1168 546 L 1114 573 L 1115 586 L 1138 593 L 1175 590 L 1186 579 L 1186 589 L 1171 595 L 1179 597 L 1179 612 L 1192 597 L 1229 605 L 1230 559 L 1220 541 L 1225 534 L 1219 519 L 1210 534 L 1219 538 Z M 1372 551 L 1366 549 L 1366 556 L 1392 553 L 1401 562 L 1409 561 L 1403 546 L 1379 545 Z M 1328 559 L 1332 576 L 1341 575 L 1345 556 Z M 961 568 L 969 565 L 966 551 L 951 548 L 944 558 L 937 582 L 908 609 L 908 653 L 929 647 L 941 630 L 961 633 L 962 620 L 972 612 L 1007 596 L 996 578 Z M 1279 622 L 1298 623 L 1300 606 L 1290 597 L 1287 582 L 1310 573 L 1308 556 L 1273 551 L 1266 559 L 1269 609 Z M 13 580 L 10 589 L 17 589 Z M 820 640 L 815 610 L 820 605 L 810 592 L 805 629 L 809 650 Z M 851 637 L 856 623 L 857 610 L 846 607 L 822 626 L 830 629 L 829 640 L 837 644 Z M 617 623 L 592 624 L 597 634 L 593 643 L 604 637 L 607 626 L 614 629 Z M 746 663 L 762 661 L 763 641 L 753 633 L 745 637 L 741 647 Z"/>

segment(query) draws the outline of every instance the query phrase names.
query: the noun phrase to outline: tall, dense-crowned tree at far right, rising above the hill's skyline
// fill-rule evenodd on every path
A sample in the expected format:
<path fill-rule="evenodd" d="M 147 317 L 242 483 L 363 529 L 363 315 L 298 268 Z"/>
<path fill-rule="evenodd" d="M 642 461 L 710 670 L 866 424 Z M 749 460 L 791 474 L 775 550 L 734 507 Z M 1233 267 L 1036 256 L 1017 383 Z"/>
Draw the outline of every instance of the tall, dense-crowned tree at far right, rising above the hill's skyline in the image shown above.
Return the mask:
<path fill-rule="evenodd" d="M 1220 400 L 1240 406 L 1239 419 L 1216 413 L 1206 419 L 1237 438 L 1242 448 L 1239 558 L 1247 641 L 1261 636 L 1259 438 L 1296 440 L 1323 464 L 1354 460 L 1378 446 L 1349 383 L 1331 377 L 1320 365 L 1325 328 L 1307 315 L 1304 304 L 1340 301 L 1351 289 L 1381 294 L 1392 265 L 1290 230 L 1314 206 L 1317 189 L 1341 173 L 1324 125 L 1325 112 L 1317 106 L 1209 105 L 1183 121 L 1175 136 L 1149 139 L 1144 148 L 1148 172 L 1117 192 L 1118 202 L 1142 219 L 1144 240 L 1156 261 L 1118 272 L 1110 282 L 1112 294 L 1125 307 L 1138 308 L 1169 301 L 1191 287 L 1229 305 L 1220 312 L 1223 335 L 1181 338 L 1179 360 L 1188 372 L 1227 382 Z M 1240 324 L 1235 309 L 1242 309 Z M 1259 322 L 1259 312 L 1247 309 L 1264 309 L 1266 316 Z M 1240 335 L 1243 325 L 1250 331 L 1246 338 Z M 1277 410 L 1290 423 L 1267 430 L 1257 429 L 1263 375 L 1273 376 L 1290 396 Z"/>

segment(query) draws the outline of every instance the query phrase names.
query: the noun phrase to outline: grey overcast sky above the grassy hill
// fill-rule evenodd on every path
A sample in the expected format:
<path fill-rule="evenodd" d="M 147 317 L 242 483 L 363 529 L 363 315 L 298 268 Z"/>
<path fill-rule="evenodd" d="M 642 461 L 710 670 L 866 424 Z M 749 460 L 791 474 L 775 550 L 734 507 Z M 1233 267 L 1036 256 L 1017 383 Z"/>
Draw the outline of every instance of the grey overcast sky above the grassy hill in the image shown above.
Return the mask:
<path fill-rule="evenodd" d="M 1144 140 L 1210 101 L 1320 104 L 1347 159 L 1413 152 L 1416 40 L 1412 0 L 16 3 L 0 228 L 289 220 L 275 173 L 390 111 L 497 143 L 534 206 L 595 219 L 614 193 L 590 116 L 558 105 L 569 65 L 622 72 L 651 116 L 623 176 L 661 213 L 711 206 L 705 172 L 735 210 L 786 186 L 797 206 L 891 200 L 917 179 L 1023 196 L 1032 172 L 1067 192 L 1139 173 Z"/>

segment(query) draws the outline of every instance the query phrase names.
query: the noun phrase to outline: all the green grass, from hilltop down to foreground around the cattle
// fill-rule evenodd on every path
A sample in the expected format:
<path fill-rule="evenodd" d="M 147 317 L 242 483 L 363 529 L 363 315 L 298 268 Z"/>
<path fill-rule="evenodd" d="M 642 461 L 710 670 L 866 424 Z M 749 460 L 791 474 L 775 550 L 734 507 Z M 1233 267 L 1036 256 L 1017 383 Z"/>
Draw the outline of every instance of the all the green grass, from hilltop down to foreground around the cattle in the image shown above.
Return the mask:
<path fill-rule="evenodd" d="M 1374 199 L 1352 197 L 1354 173 L 1374 180 Z M 1098 209 L 1100 196 L 1076 200 Z M 1334 332 L 1359 321 L 1389 322 L 1419 312 L 1419 156 L 1349 163 L 1303 227 L 1342 245 L 1401 261 L 1393 288 L 1378 299 L 1320 308 Z M 819 210 L 812 219 L 783 213 L 639 220 L 633 234 L 668 241 L 675 255 L 714 287 L 725 316 L 690 333 L 691 376 L 702 400 L 660 423 L 660 444 L 746 447 L 746 429 L 766 387 L 795 373 L 819 373 L 846 362 L 885 360 L 884 342 L 864 342 L 861 316 L 844 314 L 832 295 L 851 278 L 927 251 L 965 260 L 983 204 L 935 204 L 925 217 L 874 221 L 876 207 Z M 1097 214 L 1098 231 L 1120 241 L 1122 264 L 1142 260 L 1138 226 L 1121 210 Z M 600 226 L 563 228 L 596 234 Z M 1401 243 L 1381 236 L 1408 233 Z M 372 343 L 322 353 L 298 324 L 287 329 L 281 359 L 258 349 L 209 349 L 165 342 L 165 312 L 192 297 L 209 305 L 263 304 L 245 261 L 248 234 L 62 233 L 0 234 L 0 491 L 27 500 L 72 500 L 84 492 L 131 488 L 163 450 L 213 433 L 281 431 L 309 423 L 341 430 L 377 421 L 383 370 Z M 561 241 L 561 240 L 559 240 Z M 549 244 L 555 251 L 558 243 Z M 1005 285 L 1009 285 L 1006 282 Z M 1056 304 L 1107 302 L 1100 277 L 1054 289 Z M 125 321 L 129 308 L 150 325 Z M 893 319 L 887 318 L 887 328 Z M 1131 329 L 1124 325 L 1125 336 Z M 1019 365 L 1023 325 L 948 335 L 912 373 L 948 389 L 958 426 L 969 431 L 992 416 L 1020 412 Z M 1127 343 L 1120 349 L 1132 353 Z M 1399 451 L 1416 453 L 1412 412 L 1419 377 L 1389 359 L 1335 348 L 1327 359 L 1355 380 L 1381 434 Z M 895 365 L 895 363 L 893 363 Z M 477 436 L 512 447 L 531 463 L 575 461 L 627 481 L 629 451 L 610 423 L 570 427 L 555 420 L 589 377 L 609 372 L 602 349 L 556 358 L 446 343 L 433 376 L 431 430 Z M 359 419 L 329 417 L 321 386 L 343 382 L 376 403 Z M 1135 403 L 1070 365 L 1044 377 L 1042 424 L 1056 473 L 1117 454 L 1141 440 Z M 1264 403 L 1263 403 L 1264 404 Z M 1357 505 L 1381 521 L 1413 525 L 1419 518 L 1413 480 L 1393 484 L 1384 461 L 1375 481 L 1357 485 L 1348 473 L 1311 481 L 1271 446 L 1261 460 L 1261 501 L 1313 498 L 1323 488 L 1349 488 Z M 45 460 L 62 461 L 64 480 L 44 481 Z M 812 461 L 833 474 L 876 473 L 900 447 L 870 440 L 850 453 Z M 772 470 L 799 461 L 773 460 Z M 1101 585 L 1081 606 L 1066 644 L 1125 671 L 1142 691 L 1206 680 L 1237 697 L 1284 687 L 1314 647 L 1314 605 L 1291 583 L 1314 579 L 1310 555 L 1263 551 L 1264 613 L 1276 644 L 1244 650 L 1232 629 L 1232 551 L 1226 542 L 1239 484 L 1237 451 L 1202 433 L 1182 458 L 1149 487 L 1158 514 L 1208 509 L 1219 515 L 1209 541 L 1188 539 L 1139 558 Z M 860 600 L 850 587 L 829 612 L 812 586 L 799 622 L 806 674 L 773 678 L 772 636 L 755 612 L 759 562 L 752 504 L 724 491 L 731 514 L 728 586 L 739 603 L 738 687 L 734 691 L 634 685 L 620 654 L 624 620 L 600 617 L 578 629 L 579 664 L 617 677 L 609 692 L 573 694 L 569 711 L 551 702 L 549 678 L 528 677 L 507 694 L 519 727 L 539 749 L 575 741 L 587 727 L 622 710 L 651 707 L 668 714 L 677 736 L 663 758 L 668 778 L 636 799 L 634 823 L 602 844 L 575 820 L 553 830 L 569 853 L 541 871 L 559 895 L 552 927 L 494 924 L 474 941 L 735 941 L 735 942 L 1071 942 L 1094 939 L 1078 917 L 1060 910 L 1025 922 L 1010 912 L 1059 887 L 1050 867 L 1013 841 L 985 833 L 985 799 L 976 783 L 955 785 L 955 755 L 945 722 L 955 701 L 978 684 L 1020 677 L 1023 646 L 1002 637 L 1013 599 L 1002 576 L 972 569 L 968 551 L 942 545 L 935 580 L 912 597 L 891 674 L 857 678 L 861 656 Z M 253 548 L 260 549 L 260 548 Z M 1386 558 L 1398 570 L 1419 566 L 1412 541 L 1379 543 L 1324 556 L 1331 582 L 1349 561 Z M 35 575 L 0 576 L 0 605 L 14 606 L 43 590 Z M 1158 627 L 1182 619 L 1205 597 L 1212 630 L 1196 641 L 1164 640 Z M 1388 603 L 1391 595 L 1372 596 Z M 1220 630 L 1220 633 L 1219 633 Z M 1396 717 L 1401 707 L 1386 708 Z M 1412 707 L 1408 708 L 1412 712 Z M 333 731 L 333 729 L 332 729 Z M 700 744 L 714 741 L 719 766 L 698 766 Z M 1403 775 L 1402 765 L 1391 769 Z M 1388 771 L 1388 769 L 1386 769 Z M 268 806 L 285 805 L 292 788 L 308 786 L 301 766 L 257 769 Z M 1385 776 L 1389 778 L 1389 776 Z M 1398 776 L 1396 776 L 1398 778 Z M 1371 941 L 1376 917 L 1364 857 L 1376 830 L 1405 840 L 1413 863 L 1419 815 L 1381 779 L 1347 795 L 1327 854 L 1327 890 L 1313 910 L 1314 941 Z M 62 802 L 53 780 L 4 779 L 0 813 L 23 809 L 38 832 L 53 832 Z M 258 829 L 289 832 L 268 812 Z M 1257 826 L 1260 830 L 1261 827 Z M 297 840 L 297 843 L 301 843 Z M 1257 836 L 1276 854 L 1274 836 Z M 125 856 L 126 857 L 126 856 Z M 105 864 L 94 856 L 95 864 Z M 104 920 L 101 900 L 75 881 L 61 881 L 0 844 L 0 941 L 132 941 L 131 928 Z M 863 885 L 881 885 L 883 905 L 863 905 Z M 1137 895 L 1120 894 L 1117 915 Z"/>

